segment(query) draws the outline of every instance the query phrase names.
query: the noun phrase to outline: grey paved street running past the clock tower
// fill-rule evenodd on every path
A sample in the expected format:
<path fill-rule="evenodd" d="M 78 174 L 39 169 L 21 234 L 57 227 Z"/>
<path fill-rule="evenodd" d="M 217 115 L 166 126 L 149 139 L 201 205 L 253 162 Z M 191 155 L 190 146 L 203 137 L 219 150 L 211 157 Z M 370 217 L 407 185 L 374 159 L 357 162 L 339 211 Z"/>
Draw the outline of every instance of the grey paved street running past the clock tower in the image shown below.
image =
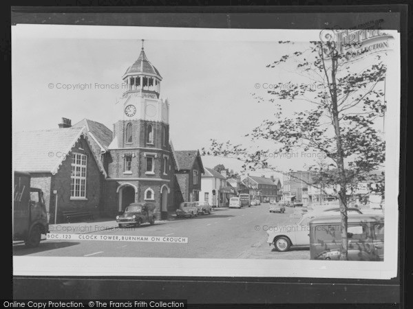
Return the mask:
<path fill-rule="evenodd" d="M 268 211 L 268 203 L 241 209 L 219 209 L 211 215 L 180 218 L 142 225 L 140 228 L 99 228 L 99 222 L 86 234 L 118 236 L 185 237 L 188 243 L 118 242 L 96 240 L 42 240 L 39 247 L 27 249 L 14 244 L 14 255 L 56 257 L 136 257 L 136 258 L 229 258 L 309 260 L 308 248 L 275 251 L 266 243 L 265 229 L 294 222 L 293 208 L 284 214 Z M 54 227 L 56 229 L 56 227 Z M 51 231 L 56 232 L 56 231 Z M 66 233 L 80 233 L 69 231 Z"/>

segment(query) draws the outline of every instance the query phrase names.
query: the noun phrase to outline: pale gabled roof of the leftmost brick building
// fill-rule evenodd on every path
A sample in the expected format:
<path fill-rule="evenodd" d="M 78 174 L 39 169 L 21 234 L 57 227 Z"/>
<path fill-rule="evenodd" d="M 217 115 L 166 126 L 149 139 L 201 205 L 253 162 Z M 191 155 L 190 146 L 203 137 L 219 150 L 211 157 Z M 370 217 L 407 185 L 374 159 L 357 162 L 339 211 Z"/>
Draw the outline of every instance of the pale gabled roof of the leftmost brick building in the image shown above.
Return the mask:
<path fill-rule="evenodd" d="M 14 133 L 13 168 L 22 172 L 56 174 L 81 136 L 85 137 L 87 144 L 91 147 L 85 126 Z M 96 157 L 94 159 L 100 171 L 106 176 L 100 161 Z"/>

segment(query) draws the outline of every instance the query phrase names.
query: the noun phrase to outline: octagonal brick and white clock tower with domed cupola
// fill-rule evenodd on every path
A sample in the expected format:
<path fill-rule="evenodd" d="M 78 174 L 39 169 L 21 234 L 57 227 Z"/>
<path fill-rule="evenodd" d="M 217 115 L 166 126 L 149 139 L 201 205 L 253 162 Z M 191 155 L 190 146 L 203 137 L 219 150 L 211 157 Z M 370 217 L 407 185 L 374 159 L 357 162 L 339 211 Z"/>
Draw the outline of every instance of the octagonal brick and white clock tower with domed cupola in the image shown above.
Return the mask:
<path fill-rule="evenodd" d="M 108 147 L 108 190 L 116 194 L 109 195 L 117 196 L 118 212 L 130 203 L 155 203 L 160 217 L 171 199 L 169 183 L 174 172 L 169 102 L 160 97 L 162 76 L 149 62 L 143 40 L 138 59 L 122 80 L 123 95 L 114 106 L 113 139 Z"/>

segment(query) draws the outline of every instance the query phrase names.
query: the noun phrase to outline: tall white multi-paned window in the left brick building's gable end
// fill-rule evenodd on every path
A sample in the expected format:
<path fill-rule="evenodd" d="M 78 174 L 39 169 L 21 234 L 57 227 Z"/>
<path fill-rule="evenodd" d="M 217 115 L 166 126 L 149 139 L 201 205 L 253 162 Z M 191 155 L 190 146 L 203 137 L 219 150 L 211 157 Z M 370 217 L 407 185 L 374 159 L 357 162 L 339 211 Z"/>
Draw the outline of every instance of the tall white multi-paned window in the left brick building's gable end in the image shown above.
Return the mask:
<path fill-rule="evenodd" d="M 86 198 L 86 155 L 72 153 L 70 197 Z"/>

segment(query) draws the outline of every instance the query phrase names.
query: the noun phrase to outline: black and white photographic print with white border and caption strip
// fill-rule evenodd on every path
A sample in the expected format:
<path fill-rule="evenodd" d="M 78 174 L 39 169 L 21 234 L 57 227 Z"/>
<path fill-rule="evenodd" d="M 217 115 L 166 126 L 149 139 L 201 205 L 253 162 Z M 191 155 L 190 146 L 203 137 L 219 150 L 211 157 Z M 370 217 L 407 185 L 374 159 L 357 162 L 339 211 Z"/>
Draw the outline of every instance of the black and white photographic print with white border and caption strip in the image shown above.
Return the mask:
<path fill-rule="evenodd" d="M 396 277 L 381 22 L 12 26 L 14 275 Z"/>

